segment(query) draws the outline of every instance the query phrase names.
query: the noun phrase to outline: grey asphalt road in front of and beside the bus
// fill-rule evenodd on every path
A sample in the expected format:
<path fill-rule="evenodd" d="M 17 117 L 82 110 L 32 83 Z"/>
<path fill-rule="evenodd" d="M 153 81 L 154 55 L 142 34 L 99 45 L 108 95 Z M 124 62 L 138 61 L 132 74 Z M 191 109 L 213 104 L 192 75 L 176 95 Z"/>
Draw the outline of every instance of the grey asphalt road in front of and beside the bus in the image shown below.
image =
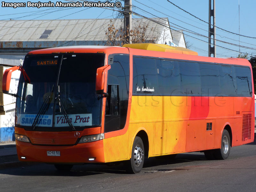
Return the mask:
<path fill-rule="evenodd" d="M 175 159 L 150 158 L 139 174 L 124 165 L 76 165 L 57 172 L 37 164 L 0 170 L 0 191 L 256 191 L 256 142 L 231 148 L 227 160 L 206 160 L 203 153 Z"/>

